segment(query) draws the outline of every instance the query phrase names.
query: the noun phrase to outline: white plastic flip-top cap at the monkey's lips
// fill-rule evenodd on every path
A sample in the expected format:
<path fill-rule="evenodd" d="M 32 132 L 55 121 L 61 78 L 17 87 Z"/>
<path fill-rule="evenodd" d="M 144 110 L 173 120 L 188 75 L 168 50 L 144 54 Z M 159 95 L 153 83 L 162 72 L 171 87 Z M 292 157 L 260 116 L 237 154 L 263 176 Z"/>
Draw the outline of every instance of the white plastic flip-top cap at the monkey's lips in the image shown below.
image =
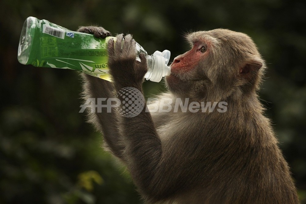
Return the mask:
<path fill-rule="evenodd" d="M 170 74 L 170 67 L 167 66 L 170 59 L 170 51 L 164 50 L 163 52 L 155 51 L 153 56 L 155 57 L 155 66 L 150 74 L 150 81 L 159 82 L 162 77 Z"/>

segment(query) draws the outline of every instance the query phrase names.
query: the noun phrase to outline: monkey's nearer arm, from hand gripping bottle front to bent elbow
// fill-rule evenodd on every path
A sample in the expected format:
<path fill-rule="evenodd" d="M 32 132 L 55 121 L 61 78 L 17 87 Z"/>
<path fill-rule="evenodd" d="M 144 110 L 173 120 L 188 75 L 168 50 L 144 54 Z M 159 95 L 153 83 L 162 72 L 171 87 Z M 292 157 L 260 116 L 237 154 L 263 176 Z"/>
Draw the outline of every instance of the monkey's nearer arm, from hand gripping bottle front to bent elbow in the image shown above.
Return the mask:
<path fill-rule="evenodd" d="M 135 60 L 135 40 L 127 35 L 121 49 L 123 35 L 118 35 L 116 43 L 108 42 L 109 67 L 117 91 L 125 87 L 134 87 L 142 92 L 142 82 L 147 72 L 146 58 L 140 54 L 141 62 Z M 123 98 L 119 95 L 119 100 Z M 175 192 L 177 180 L 171 181 L 175 167 L 169 168 L 168 157 L 163 155 L 162 142 L 155 129 L 146 105 L 135 117 L 121 117 L 120 129 L 126 145 L 125 157 L 133 180 L 142 195 L 161 198 Z M 175 148 L 175 147 L 173 147 Z M 175 151 L 167 151 L 175 154 Z M 164 159 L 162 159 L 164 158 Z M 169 171 L 165 172 L 163 169 Z M 174 173 L 173 173 L 174 172 Z"/>

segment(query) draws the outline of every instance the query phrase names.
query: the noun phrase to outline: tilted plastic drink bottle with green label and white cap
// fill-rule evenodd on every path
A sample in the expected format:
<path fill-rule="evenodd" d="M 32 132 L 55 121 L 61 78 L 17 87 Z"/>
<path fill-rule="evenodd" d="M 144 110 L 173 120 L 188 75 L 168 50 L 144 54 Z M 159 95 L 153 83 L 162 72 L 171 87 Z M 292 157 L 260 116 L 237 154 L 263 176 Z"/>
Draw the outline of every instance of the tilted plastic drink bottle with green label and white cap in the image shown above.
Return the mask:
<path fill-rule="evenodd" d="M 28 17 L 21 32 L 17 58 L 21 64 L 78 70 L 110 81 L 107 65 L 110 38 L 116 40 L 115 37 L 95 38 L 92 34 L 73 32 L 47 20 Z M 170 51 L 148 55 L 138 43 L 135 50 L 136 60 L 140 60 L 140 53 L 147 55 L 147 80 L 159 82 L 170 74 L 167 66 Z"/>

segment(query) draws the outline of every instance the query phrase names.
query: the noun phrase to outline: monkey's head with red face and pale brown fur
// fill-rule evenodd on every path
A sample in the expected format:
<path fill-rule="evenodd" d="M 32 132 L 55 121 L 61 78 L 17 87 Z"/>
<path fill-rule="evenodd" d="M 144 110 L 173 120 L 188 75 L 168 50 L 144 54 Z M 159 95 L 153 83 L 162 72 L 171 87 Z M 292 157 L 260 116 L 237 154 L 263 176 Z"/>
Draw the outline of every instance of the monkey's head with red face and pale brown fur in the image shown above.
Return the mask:
<path fill-rule="evenodd" d="M 247 96 L 259 88 L 265 65 L 249 36 L 215 29 L 193 32 L 186 39 L 191 50 L 174 59 L 166 77 L 172 93 L 220 101 L 233 94 Z"/>

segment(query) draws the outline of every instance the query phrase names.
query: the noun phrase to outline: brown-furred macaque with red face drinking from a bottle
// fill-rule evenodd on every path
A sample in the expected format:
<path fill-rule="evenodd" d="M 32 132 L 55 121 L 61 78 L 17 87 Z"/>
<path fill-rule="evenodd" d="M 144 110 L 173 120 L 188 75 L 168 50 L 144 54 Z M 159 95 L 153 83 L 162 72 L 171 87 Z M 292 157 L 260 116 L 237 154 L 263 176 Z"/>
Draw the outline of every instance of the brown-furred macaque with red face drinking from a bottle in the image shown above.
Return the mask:
<path fill-rule="evenodd" d="M 110 35 L 104 28 L 79 31 Z M 118 108 L 89 113 L 107 148 L 124 162 L 147 203 L 299 203 L 257 95 L 266 65 L 255 43 L 227 29 L 186 39 L 191 50 L 174 59 L 169 91 L 158 96 L 172 99 L 171 111 L 146 111 L 156 100 L 135 117 L 118 114 Z M 108 53 L 113 82 L 84 74 L 84 98 L 113 98 L 125 87 L 143 93 L 146 58 L 135 60 L 132 36 L 109 40 Z M 177 99 L 193 108 L 174 111 Z M 192 111 L 220 102 L 226 110 Z"/>

